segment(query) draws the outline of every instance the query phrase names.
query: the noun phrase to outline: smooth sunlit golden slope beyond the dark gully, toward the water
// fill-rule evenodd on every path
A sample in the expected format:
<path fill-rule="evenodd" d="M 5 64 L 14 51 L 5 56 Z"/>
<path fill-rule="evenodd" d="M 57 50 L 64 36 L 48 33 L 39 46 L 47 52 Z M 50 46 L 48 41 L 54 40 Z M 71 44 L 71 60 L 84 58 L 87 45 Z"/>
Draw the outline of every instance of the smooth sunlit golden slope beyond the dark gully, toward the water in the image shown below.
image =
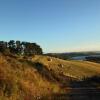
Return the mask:
<path fill-rule="evenodd" d="M 51 58 L 52 61 L 48 61 L 48 58 Z M 35 56 L 33 61 L 41 62 L 49 69 L 73 78 L 80 79 L 100 74 L 100 64 L 88 61 L 65 61 L 48 56 Z M 60 64 L 63 65 L 63 68 L 59 66 Z"/>

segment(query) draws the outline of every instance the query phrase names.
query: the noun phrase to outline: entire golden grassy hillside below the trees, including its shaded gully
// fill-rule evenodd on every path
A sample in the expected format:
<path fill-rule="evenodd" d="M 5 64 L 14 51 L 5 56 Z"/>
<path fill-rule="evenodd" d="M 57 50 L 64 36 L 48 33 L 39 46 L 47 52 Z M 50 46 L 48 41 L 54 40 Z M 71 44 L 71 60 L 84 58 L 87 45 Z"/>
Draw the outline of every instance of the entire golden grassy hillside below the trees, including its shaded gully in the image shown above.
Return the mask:
<path fill-rule="evenodd" d="M 99 74 L 97 63 L 0 54 L 0 100 L 40 100 L 67 94 L 70 82 Z"/>

